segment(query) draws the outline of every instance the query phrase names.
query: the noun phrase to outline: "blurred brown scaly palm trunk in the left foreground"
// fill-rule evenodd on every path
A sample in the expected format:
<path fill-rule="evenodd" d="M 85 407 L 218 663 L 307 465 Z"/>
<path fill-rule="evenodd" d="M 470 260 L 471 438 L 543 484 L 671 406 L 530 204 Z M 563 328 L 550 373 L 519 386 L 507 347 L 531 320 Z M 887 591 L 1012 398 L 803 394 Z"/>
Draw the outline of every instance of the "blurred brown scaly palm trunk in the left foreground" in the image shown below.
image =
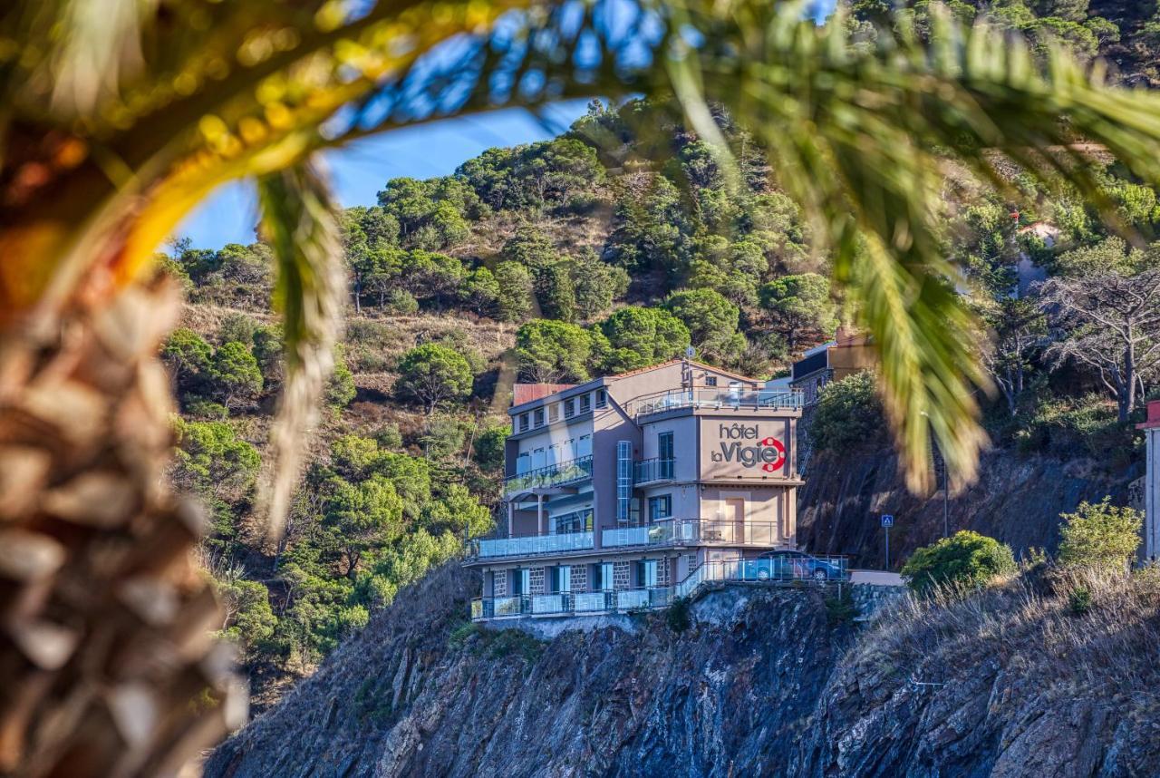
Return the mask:
<path fill-rule="evenodd" d="M 245 718 L 191 555 L 205 517 L 166 485 L 177 296 L 106 302 L 0 334 L 5 775 L 174 775 Z"/>

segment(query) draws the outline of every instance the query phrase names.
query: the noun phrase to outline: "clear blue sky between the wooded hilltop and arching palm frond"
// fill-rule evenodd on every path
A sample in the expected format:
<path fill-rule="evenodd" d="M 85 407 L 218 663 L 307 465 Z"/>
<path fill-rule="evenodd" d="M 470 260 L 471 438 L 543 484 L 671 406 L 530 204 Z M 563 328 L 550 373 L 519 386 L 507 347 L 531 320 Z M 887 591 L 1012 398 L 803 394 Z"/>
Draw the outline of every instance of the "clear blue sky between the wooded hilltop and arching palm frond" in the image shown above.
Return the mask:
<path fill-rule="evenodd" d="M 331 180 L 341 204 L 370 206 L 390 179 L 448 175 L 486 149 L 553 138 L 581 116 L 587 105 L 587 100 L 568 100 L 549 106 L 539 116 L 512 108 L 385 132 L 327 152 Z M 253 187 L 229 183 L 190 214 L 177 235 L 189 237 L 198 248 L 219 248 L 227 243 L 253 243 L 256 223 Z"/>

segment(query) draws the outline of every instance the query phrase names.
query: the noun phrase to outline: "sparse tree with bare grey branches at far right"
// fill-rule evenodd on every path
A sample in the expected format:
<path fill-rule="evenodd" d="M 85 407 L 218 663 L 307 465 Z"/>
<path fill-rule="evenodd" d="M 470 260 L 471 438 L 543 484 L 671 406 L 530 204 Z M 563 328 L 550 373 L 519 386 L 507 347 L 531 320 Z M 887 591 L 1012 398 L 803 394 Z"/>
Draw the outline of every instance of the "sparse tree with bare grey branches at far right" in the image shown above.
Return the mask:
<path fill-rule="evenodd" d="M 1116 398 L 1121 423 L 1160 367 L 1160 244 L 1128 251 L 1109 238 L 1099 251 L 1068 252 L 1063 274 L 1041 288 L 1050 317 L 1047 354 L 1092 370 Z"/>

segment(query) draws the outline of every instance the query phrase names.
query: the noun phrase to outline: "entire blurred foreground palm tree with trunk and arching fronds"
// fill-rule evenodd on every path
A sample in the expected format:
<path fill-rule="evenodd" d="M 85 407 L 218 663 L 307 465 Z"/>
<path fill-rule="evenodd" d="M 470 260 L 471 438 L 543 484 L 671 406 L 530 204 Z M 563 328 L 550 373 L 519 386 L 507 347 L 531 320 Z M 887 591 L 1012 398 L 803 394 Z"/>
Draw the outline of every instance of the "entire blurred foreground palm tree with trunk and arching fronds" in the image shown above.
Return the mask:
<path fill-rule="evenodd" d="M 851 46 L 804 5 L 19 0 L 0 12 L 0 770 L 174 772 L 239 722 L 230 662 L 206 637 L 217 607 L 189 561 L 200 513 L 161 485 L 172 402 L 155 351 L 177 301 L 153 275 L 154 250 L 216 186 L 255 182 L 285 331 L 264 503 L 277 532 L 343 293 L 316 156 L 392 127 L 644 92 L 675 96 L 728 168 L 708 107 L 720 103 L 833 252 L 882 355 L 909 483 L 929 483 L 928 430 L 957 477 L 973 477 L 987 382 L 981 330 L 936 238 L 945 171 L 1006 189 L 1006 158 L 1095 196 L 1081 137 L 1157 182 L 1160 101 L 1103 86 L 1063 50 L 1039 63 L 937 13 L 933 43 L 900 33 Z"/>

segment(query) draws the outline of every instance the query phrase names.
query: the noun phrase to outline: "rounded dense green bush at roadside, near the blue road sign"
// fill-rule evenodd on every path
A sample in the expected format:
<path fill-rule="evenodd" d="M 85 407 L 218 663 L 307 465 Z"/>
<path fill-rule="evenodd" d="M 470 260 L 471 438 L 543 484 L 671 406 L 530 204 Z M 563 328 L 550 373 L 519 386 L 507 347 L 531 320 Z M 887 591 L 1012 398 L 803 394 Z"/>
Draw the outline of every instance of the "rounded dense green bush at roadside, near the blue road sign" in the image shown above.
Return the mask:
<path fill-rule="evenodd" d="M 1010 546 L 963 530 L 915 550 L 902 566 L 902 577 L 911 589 L 926 595 L 938 586 L 984 586 L 1015 570 Z"/>

